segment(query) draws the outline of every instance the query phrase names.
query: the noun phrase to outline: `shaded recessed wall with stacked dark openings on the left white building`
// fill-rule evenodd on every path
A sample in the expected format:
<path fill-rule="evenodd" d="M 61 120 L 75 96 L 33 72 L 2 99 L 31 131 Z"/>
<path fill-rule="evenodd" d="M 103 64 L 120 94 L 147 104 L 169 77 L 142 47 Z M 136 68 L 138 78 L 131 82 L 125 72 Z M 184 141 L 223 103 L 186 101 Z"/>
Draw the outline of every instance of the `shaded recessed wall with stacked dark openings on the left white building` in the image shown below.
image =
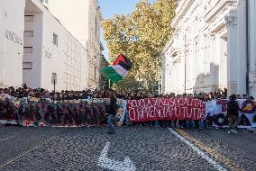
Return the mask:
<path fill-rule="evenodd" d="M 26 0 L 24 14 L 23 84 L 38 88 L 42 87 L 43 81 L 41 80 L 43 12 L 32 1 Z"/>

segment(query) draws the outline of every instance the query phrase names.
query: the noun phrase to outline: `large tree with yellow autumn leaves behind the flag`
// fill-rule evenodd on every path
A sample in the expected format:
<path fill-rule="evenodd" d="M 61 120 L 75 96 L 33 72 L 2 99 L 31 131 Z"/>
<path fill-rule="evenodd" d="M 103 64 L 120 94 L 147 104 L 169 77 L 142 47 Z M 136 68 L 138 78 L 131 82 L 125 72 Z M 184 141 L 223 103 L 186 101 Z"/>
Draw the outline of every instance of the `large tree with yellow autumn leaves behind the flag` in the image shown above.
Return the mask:
<path fill-rule="evenodd" d="M 114 60 L 120 53 L 133 61 L 133 69 L 116 86 L 140 82 L 150 88 L 160 76 L 160 52 L 172 33 L 170 23 L 177 0 L 140 1 L 132 14 L 114 15 L 102 23 L 109 56 Z M 138 84 L 138 85 L 140 85 Z"/>

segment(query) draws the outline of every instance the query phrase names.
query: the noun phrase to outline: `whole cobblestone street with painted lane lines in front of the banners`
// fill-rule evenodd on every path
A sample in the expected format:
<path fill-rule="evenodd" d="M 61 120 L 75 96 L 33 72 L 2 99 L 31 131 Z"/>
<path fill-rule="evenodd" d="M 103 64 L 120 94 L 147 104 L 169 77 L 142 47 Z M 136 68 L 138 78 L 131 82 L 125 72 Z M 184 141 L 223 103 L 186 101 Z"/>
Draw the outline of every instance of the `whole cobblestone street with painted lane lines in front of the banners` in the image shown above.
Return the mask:
<path fill-rule="evenodd" d="M 135 166 L 130 170 L 256 167 L 256 135 L 245 130 L 238 135 L 227 134 L 225 130 L 151 127 L 123 127 L 114 135 L 105 132 L 104 127 L 2 128 L 0 170 L 129 170 L 98 165 L 106 143 L 107 158 L 122 163 L 129 157 Z"/>

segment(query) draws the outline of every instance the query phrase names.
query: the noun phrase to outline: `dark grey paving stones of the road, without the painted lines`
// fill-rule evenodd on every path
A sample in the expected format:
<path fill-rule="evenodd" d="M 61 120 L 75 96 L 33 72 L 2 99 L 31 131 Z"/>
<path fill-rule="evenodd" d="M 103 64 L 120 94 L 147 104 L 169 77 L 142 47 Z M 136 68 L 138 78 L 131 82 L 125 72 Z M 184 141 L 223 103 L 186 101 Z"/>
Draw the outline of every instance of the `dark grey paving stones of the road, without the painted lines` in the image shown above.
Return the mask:
<path fill-rule="evenodd" d="M 244 170 L 256 167 L 255 158 L 209 138 L 208 134 L 200 130 L 186 130 L 186 132 L 205 143 L 207 147 L 230 158 Z M 192 148 L 168 129 L 162 128 L 122 127 L 116 129 L 114 135 L 106 134 L 104 127 L 72 129 L 10 127 L 0 130 L 0 139 L 8 136 L 14 138 L 0 144 L 0 163 L 51 137 L 57 136 L 57 138 L 0 170 L 104 171 L 105 168 L 96 164 L 106 142 L 110 142 L 107 157 L 120 162 L 124 157 L 130 157 L 138 171 L 215 170 L 214 166 L 195 153 Z M 224 165 L 221 161 L 218 162 Z"/>

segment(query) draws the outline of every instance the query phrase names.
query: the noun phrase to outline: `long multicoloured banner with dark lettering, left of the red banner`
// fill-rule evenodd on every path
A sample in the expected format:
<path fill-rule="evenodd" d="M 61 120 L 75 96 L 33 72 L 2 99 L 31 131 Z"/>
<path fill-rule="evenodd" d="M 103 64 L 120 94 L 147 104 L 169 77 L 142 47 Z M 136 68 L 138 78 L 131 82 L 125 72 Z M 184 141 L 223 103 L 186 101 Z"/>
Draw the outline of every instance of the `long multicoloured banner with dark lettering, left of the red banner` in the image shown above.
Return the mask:
<path fill-rule="evenodd" d="M 126 109 L 125 102 L 118 100 L 121 110 Z M 12 101 L 5 96 L 0 100 L 0 123 L 61 127 L 101 125 L 106 124 L 107 103 L 109 99 L 49 101 L 26 97 Z M 123 114 L 119 115 L 121 124 Z"/>

